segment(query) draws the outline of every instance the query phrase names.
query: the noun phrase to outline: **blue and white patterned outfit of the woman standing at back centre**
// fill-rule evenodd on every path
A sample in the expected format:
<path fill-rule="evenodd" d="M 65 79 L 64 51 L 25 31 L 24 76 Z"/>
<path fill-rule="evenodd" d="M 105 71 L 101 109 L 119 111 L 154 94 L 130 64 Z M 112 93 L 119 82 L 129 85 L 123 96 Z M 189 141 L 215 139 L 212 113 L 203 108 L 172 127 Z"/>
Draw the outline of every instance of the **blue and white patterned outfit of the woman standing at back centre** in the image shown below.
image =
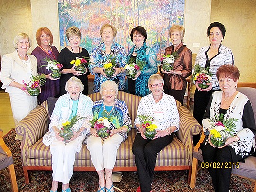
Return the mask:
<path fill-rule="evenodd" d="M 124 67 L 126 65 L 126 57 L 127 53 L 123 46 L 119 45 L 118 43 L 113 42 L 111 45 L 110 54 L 106 54 L 106 46 L 104 43 L 101 43 L 99 46 L 96 46 L 92 49 L 91 53 L 91 64 L 89 65 L 89 70 L 91 74 L 95 75 L 94 77 L 94 86 L 93 86 L 93 93 L 99 92 L 101 84 L 106 80 L 113 80 L 116 81 L 118 84 L 118 90 L 124 91 L 124 83 L 125 83 L 125 72 L 119 73 L 114 78 L 106 78 L 100 73 L 93 73 L 95 67 L 103 67 L 104 62 L 110 58 L 110 55 L 116 57 L 116 67 Z"/>

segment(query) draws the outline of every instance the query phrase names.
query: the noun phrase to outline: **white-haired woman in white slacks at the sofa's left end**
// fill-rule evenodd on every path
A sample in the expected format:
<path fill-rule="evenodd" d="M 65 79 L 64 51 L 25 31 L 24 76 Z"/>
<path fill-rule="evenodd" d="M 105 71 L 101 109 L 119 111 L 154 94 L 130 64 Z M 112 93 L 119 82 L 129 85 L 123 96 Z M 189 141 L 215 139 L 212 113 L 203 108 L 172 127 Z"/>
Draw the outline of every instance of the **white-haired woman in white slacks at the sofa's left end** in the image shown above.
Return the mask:
<path fill-rule="evenodd" d="M 58 182 L 62 182 L 62 192 L 71 192 L 69 180 L 73 175 L 76 152 L 80 152 L 85 135 L 90 131 L 93 101 L 83 95 L 84 86 L 80 79 L 71 77 L 65 86 L 66 94 L 56 102 L 49 132 L 43 138 L 43 143 L 50 146 L 52 154 L 53 182 L 50 192 L 57 192 Z M 72 127 L 73 137 L 64 142 L 60 129 L 63 123 L 71 121 L 73 117 L 83 117 Z M 71 122 L 70 122 L 71 123 Z"/>

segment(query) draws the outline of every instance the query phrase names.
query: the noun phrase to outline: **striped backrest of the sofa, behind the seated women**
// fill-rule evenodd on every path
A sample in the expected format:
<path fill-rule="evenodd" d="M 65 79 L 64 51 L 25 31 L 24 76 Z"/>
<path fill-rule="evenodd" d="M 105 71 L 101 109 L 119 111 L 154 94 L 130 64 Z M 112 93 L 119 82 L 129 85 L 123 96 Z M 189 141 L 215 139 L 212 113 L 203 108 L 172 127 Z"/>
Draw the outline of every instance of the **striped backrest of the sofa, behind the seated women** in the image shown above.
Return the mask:
<path fill-rule="evenodd" d="M 90 94 L 88 96 L 91 97 L 91 100 L 93 102 L 100 100 L 102 98 L 99 92 Z M 118 91 L 117 99 L 125 101 L 128 107 L 128 111 L 130 113 L 130 117 L 132 119 L 132 125 L 134 127 L 134 119 L 136 118 L 137 115 L 137 109 L 141 97 L 126 92 Z"/>

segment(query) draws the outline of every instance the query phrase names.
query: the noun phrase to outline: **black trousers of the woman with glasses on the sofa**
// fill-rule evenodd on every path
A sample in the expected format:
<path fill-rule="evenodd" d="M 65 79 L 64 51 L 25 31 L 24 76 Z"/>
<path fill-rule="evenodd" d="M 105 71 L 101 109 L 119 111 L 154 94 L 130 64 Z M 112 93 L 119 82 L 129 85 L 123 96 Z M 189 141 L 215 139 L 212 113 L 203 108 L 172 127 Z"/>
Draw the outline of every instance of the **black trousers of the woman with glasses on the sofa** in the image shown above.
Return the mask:
<path fill-rule="evenodd" d="M 151 191 L 157 154 L 171 143 L 172 140 L 173 135 L 157 138 L 155 140 L 145 140 L 141 137 L 140 133 L 136 135 L 132 152 L 135 156 L 135 164 L 137 166 L 139 184 L 142 192 Z"/>

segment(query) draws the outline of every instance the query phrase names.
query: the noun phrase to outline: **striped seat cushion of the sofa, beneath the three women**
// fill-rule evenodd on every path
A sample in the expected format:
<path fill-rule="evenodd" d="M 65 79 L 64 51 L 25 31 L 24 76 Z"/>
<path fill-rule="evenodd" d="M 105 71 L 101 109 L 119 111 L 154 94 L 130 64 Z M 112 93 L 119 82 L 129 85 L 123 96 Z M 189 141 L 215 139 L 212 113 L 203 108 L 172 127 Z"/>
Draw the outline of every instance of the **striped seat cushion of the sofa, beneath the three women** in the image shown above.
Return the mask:
<path fill-rule="evenodd" d="M 132 144 L 136 136 L 136 130 L 132 129 L 128 133 L 128 138 L 120 145 L 117 151 L 117 161 L 115 166 L 119 167 L 131 167 L 136 166 L 134 161 L 134 155 L 132 154 Z M 43 160 L 51 160 L 50 147 L 45 146 L 42 143 L 42 139 L 37 141 L 29 149 L 29 162 L 31 165 L 45 164 Z M 35 162 L 37 161 L 37 162 Z M 33 163 L 34 162 L 34 163 Z M 188 164 L 188 149 L 179 141 L 176 137 L 171 144 L 165 146 L 164 150 L 161 150 L 158 154 L 156 166 L 181 166 Z M 90 152 L 86 145 L 82 145 L 80 153 L 76 153 L 75 166 L 93 166 L 91 162 Z"/>

